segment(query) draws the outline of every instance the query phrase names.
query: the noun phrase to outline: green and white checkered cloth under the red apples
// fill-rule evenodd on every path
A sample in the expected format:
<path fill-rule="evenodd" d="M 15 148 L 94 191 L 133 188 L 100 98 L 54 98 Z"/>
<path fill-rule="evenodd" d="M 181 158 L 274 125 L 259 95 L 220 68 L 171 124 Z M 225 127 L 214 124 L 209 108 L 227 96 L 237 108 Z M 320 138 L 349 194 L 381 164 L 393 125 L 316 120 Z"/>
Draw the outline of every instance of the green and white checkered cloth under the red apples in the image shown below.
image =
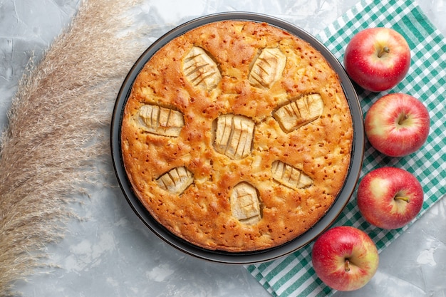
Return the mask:
<path fill-rule="evenodd" d="M 343 61 L 351 37 L 365 28 L 390 27 L 409 43 L 412 63 L 405 79 L 388 92 L 370 93 L 357 88 L 363 113 L 386 93 L 408 93 L 419 98 L 431 117 L 430 135 L 418 151 L 391 158 L 365 144 L 361 177 L 383 166 L 400 167 L 415 174 L 425 191 L 420 217 L 446 193 L 446 43 L 413 0 L 367 0 L 354 6 L 316 36 Z M 408 228 L 384 230 L 370 226 L 356 206 L 356 190 L 335 225 L 356 226 L 367 232 L 383 251 Z M 316 276 L 311 265 L 312 244 L 282 259 L 247 266 L 248 271 L 272 296 L 331 296 L 333 291 Z"/>

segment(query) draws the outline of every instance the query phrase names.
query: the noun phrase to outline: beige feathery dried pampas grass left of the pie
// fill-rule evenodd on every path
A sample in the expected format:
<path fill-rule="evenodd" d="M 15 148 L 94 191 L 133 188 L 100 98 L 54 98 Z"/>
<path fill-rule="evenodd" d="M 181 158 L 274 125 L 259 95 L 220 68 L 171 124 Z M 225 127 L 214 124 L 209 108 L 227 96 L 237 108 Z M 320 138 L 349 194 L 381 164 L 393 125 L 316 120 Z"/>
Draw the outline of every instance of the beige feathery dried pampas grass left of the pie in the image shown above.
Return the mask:
<path fill-rule="evenodd" d="M 84 1 L 73 23 L 11 104 L 0 147 L 0 296 L 41 266 L 63 236 L 70 204 L 108 160 L 111 110 L 126 73 L 147 44 L 126 30 L 133 1 Z M 125 33 L 127 32 L 127 33 Z"/>

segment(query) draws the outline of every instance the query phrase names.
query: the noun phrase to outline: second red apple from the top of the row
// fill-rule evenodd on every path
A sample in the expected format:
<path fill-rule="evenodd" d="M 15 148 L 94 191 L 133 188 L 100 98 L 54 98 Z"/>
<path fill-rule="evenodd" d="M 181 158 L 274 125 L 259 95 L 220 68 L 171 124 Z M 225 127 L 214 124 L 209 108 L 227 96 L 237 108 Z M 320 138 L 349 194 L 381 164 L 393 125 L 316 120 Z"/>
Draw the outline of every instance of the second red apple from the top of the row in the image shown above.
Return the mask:
<path fill-rule="evenodd" d="M 376 150 L 403 157 L 422 147 L 429 135 L 430 116 L 417 98 L 391 93 L 378 99 L 365 115 L 364 129 Z"/>

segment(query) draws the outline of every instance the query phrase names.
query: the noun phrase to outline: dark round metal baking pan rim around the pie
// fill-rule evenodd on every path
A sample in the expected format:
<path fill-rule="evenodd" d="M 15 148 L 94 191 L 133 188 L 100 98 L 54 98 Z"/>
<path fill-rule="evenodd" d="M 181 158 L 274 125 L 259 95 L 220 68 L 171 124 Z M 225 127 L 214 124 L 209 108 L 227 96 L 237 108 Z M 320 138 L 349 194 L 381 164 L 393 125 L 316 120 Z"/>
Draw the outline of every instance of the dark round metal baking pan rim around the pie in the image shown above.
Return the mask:
<path fill-rule="evenodd" d="M 336 197 L 336 201 L 333 203 L 331 208 L 328 209 L 328 212 L 326 212 L 324 217 L 322 217 L 311 229 L 306 231 L 306 233 L 302 234 L 296 239 L 287 242 L 286 244 L 282 244 L 281 246 L 276 246 L 271 249 L 264 249 L 261 251 L 234 253 L 227 251 L 208 250 L 190 244 L 188 241 L 185 241 L 184 239 L 181 239 L 180 237 L 172 234 L 150 215 L 147 209 L 145 209 L 145 207 L 140 203 L 138 197 L 136 197 L 133 193 L 132 186 L 128 180 L 121 157 L 120 126 L 123 116 L 123 110 L 125 107 L 125 103 L 128 100 L 128 96 L 130 95 L 133 82 L 142 68 L 145 66 L 145 63 L 147 63 L 147 61 L 149 61 L 150 58 L 160 48 L 162 48 L 162 46 L 165 46 L 165 44 L 167 44 L 169 41 L 176 38 L 177 36 L 180 36 L 183 33 L 199 26 L 225 20 L 264 22 L 270 24 L 271 26 L 281 28 L 282 30 L 287 31 L 297 36 L 298 38 L 301 38 L 310 43 L 311 46 L 322 53 L 322 55 L 326 58 L 326 61 L 328 61 L 334 71 L 338 73 L 343 91 L 346 94 L 346 98 L 350 106 L 350 112 L 353 120 L 353 146 L 351 152 L 351 163 L 348 169 L 348 175 L 343 184 L 343 188 L 338 194 L 338 197 Z M 316 239 L 319 234 L 328 229 L 329 226 L 331 226 L 331 224 L 335 222 L 336 218 L 346 207 L 346 204 L 348 203 L 348 200 L 350 199 L 356 187 L 363 164 L 365 140 L 363 128 L 363 113 L 358 100 L 358 95 L 356 95 L 356 91 L 353 88 L 351 80 L 348 78 L 346 71 L 344 71 L 343 67 L 338 62 L 336 57 L 333 56 L 333 54 L 328 51 L 328 49 L 323 46 L 320 41 L 311 36 L 311 34 L 295 26 L 294 24 L 290 24 L 289 22 L 283 21 L 281 19 L 276 19 L 264 14 L 254 14 L 247 12 L 231 12 L 202 16 L 198 19 L 194 19 L 192 21 L 188 21 L 185 24 L 177 26 L 176 28 L 172 29 L 171 31 L 167 32 L 165 35 L 157 39 L 157 41 L 152 43 L 152 45 L 147 48 L 144 53 L 142 53 L 140 58 L 138 58 L 138 61 L 135 62 L 133 68 L 130 69 L 130 72 L 128 73 L 123 82 L 123 85 L 120 88 L 113 110 L 110 132 L 110 145 L 113 167 L 116 177 L 118 178 L 120 188 L 123 191 L 125 199 L 127 199 L 128 203 L 130 204 L 130 207 L 132 207 L 135 214 L 138 215 L 138 217 L 142 220 L 142 222 L 144 222 L 148 229 L 150 229 L 153 233 L 160 237 L 160 239 L 167 242 L 167 244 L 174 246 L 176 249 L 186 254 L 195 256 L 199 259 L 226 264 L 255 264 L 264 261 L 270 261 L 281 256 L 291 254 L 294 251 L 297 251 L 306 246 L 307 244 L 310 244 L 311 241 Z"/>

